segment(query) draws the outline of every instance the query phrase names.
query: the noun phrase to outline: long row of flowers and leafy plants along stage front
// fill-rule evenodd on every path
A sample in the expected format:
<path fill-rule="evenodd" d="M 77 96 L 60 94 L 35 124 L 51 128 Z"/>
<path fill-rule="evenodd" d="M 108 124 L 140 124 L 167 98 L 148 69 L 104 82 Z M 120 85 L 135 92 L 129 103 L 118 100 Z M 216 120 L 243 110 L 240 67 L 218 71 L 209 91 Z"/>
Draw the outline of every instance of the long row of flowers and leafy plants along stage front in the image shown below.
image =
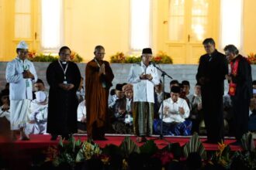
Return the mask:
<path fill-rule="evenodd" d="M 244 140 L 245 138 L 247 139 Z M 244 139 L 242 139 L 244 143 L 249 146 L 250 135 Z M 140 169 L 140 166 L 144 169 L 152 169 L 158 160 L 157 164 L 159 165 L 160 162 L 161 168 L 167 169 L 171 164 L 189 165 L 189 156 L 195 153 L 200 155 L 201 165 L 199 166 L 202 166 L 201 168 L 213 166 L 213 168 L 233 169 L 232 167 L 238 165 L 244 167 L 240 169 L 256 168 L 256 150 L 252 148 L 250 151 L 231 151 L 228 145 L 221 142 L 217 151 L 209 151 L 208 157 L 205 157 L 206 151 L 202 142 L 199 141 L 198 134 L 194 134 L 184 146 L 180 146 L 179 143 L 170 143 L 162 149 L 158 149 L 154 141 L 146 141 L 139 147 L 129 137 L 124 138 L 119 146 L 106 145 L 105 148 L 99 148 L 99 145 L 93 141 L 82 143 L 80 139 L 76 141 L 72 137 L 64 142 L 61 139 L 58 146 L 48 148 L 43 164 L 37 166 L 46 168 L 45 164 L 48 163 L 51 165 L 50 168 L 57 169 L 86 169 L 87 166 L 92 168 L 92 165 L 94 168 L 97 166 L 98 169 Z M 191 161 L 190 159 L 190 163 Z"/>

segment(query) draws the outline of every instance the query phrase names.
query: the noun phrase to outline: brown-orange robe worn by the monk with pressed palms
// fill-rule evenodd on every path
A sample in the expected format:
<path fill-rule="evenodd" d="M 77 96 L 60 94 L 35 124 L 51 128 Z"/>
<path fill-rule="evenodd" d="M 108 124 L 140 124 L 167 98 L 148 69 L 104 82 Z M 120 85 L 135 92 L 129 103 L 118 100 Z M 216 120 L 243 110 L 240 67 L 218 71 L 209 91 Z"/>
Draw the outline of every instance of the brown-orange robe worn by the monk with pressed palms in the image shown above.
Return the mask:
<path fill-rule="evenodd" d="M 105 63 L 105 75 L 99 75 L 99 66 L 94 59 L 87 63 L 85 69 L 85 100 L 88 137 L 92 137 L 93 125 L 96 128 L 104 128 L 108 120 L 109 88 L 112 87 L 114 74 L 107 61 L 99 61 L 99 65 Z M 102 87 L 102 83 L 106 87 Z"/>

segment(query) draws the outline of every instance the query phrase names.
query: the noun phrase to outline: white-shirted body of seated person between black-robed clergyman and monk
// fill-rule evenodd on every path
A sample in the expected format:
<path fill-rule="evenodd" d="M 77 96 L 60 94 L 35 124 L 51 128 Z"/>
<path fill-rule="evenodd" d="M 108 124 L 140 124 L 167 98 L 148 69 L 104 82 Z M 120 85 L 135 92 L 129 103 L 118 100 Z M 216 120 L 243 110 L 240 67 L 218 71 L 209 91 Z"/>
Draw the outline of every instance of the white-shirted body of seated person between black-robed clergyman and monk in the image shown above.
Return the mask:
<path fill-rule="evenodd" d="M 86 102 L 81 101 L 78 105 L 78 133 L 86 133 Z"/>

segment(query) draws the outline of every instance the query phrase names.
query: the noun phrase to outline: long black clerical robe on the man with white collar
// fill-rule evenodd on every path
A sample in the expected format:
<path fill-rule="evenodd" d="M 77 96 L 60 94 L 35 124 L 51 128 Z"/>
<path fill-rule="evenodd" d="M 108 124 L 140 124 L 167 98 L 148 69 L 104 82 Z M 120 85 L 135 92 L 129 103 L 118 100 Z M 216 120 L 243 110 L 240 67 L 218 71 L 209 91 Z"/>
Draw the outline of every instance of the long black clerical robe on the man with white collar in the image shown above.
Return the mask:
<path fill-rule="evenodd" d="M 62 67 L 61 67 L 62 66 Z M 71 90 L 63 90 L 59 83 L 64 83 L 64 70 L 67 83 L 74 84 Z M 71 134 L 77 132 L 78 99 L 76 91 L 81 80 L 81 73 L 76 63 L 59 61 L 50 63 L 47 68 L 47 82 L 50 85 L 47 133 Z"/>

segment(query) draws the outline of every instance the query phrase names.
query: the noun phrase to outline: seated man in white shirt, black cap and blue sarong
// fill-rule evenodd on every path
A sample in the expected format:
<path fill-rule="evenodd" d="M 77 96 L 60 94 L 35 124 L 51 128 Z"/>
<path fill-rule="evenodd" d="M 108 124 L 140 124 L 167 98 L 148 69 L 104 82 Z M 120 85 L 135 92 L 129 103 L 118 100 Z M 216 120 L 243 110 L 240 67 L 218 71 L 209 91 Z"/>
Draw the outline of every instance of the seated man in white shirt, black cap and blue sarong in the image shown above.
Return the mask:
<path fill-rule="evenodd" d="M 163 134 L 189 135 L 192 123 L 185 121 L 189 117 L 189 105 L 179 97 L 180 87 L 171 87 L 171 97 L 164 100 L 163 109 Z M 163 105 L 159 109 L 161 117 Z M 154 122 L 154 131 L 159 134 L 161 131 L 161 120 Z"/>

